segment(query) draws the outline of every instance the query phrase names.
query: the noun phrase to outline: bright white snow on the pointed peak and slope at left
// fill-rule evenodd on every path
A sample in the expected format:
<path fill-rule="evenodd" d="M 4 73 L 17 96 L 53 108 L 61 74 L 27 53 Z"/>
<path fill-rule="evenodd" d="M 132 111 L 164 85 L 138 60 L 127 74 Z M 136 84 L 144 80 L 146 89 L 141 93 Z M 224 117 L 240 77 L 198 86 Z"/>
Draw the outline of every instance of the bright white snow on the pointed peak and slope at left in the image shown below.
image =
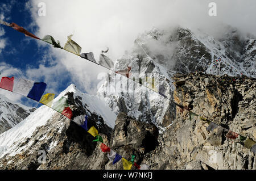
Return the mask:
<path fill-rule="evenodd" d="M 77 90 L 76 86 L 73 84 L 70 85 L 66 90 L 61 92 L 53 100 L 53 105 L 62 96 L 67 97 L 65 95 L 67 92 L 73 92 L 74 98 L 79 96 L 82 99 L 82 103 L 86 104 L 87 110 L 101 116 L 104 119 L 105 123 L 109 125 L 109 127 L 114 128 L 114 123 L 117 116 L 110 110 L 108 106 L 106 106 L 104 101 L 98 99 L 96 96 L 82 93 L 81 91 Z M 28 144 L 22 147 L 18 146 L 18 144 L 19 142 L 24 142 L 24 140 L 30 138 L 32 134 L 36 131 L 37 127 L 42 127 L 56 113 L 57 112 L 55 110 L 52 110 L 52 108 L 49 108 L 47 106 L 41 106 L 35 112 L 31 113 L 30 116 L 21 121 L 18 125 L 0 134 L 0 154 L 2 154 L 1 157 L 3 157 L 3 155 L 7 153 L 9 153 L 10 156 L 13 156 L 15 154 L 18 154 L 24 148 L 30 146 L 30 144 L 32 144 L 31 142 L 28 142 Z"/>

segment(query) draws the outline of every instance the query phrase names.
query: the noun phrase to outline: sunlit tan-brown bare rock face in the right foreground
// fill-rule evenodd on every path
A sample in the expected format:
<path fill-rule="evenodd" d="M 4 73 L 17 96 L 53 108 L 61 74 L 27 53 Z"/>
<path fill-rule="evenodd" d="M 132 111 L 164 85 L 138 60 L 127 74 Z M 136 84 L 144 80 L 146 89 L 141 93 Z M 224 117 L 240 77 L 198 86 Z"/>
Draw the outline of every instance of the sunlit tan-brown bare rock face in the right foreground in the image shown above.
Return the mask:
<path fill-rule="evenodd" d="M 178 74 L 174 98 L 198 115 L 256 141 L 256 83 L 254 78 Z M 178 83 L 183 82 L 183 83 Z M 217 127 L 207 131 L 200 117 L 189 119 L 177 108 L 171 127 L 159 136 L 159 146 L 143 160 L 151 169 L 256 169 L 256 156 L 225 137 Z"/>

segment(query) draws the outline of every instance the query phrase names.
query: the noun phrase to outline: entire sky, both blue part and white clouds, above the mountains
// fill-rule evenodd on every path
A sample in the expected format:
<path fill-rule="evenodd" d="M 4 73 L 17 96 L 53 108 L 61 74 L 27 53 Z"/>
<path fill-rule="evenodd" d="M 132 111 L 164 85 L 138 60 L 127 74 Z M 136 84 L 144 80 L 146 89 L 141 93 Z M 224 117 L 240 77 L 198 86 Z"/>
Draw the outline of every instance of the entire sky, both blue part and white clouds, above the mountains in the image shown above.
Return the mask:
<path fill-rule="evenodd" d="M 216 3 L 217 16 L 209 16 L 210 2 Z M 38 14 L 42 3 L 45 16 Z M 255 7 L 254 0 L 1 0 L 0 19 L 15 22 L 40 38 L 51 35 L 62 46 L 73 34 L 82 53 L 93 52 L 98 60 L 100 51 L 109 47 L 107 56 L 116 60 L 132 49 L 140 33 L 152 27 L 181 26 L 218 37 L 229 25 L 243 34 L 256 35 Z M 95 95 L 101 81 L 98 76 L 107 70 L 0 25 L 0 72 L 2 77 L 46 82 L 46 91 L 56 95 L 71 83 Z M 39 106 L 5 90 L 0 94 L 26 106 Z"/>

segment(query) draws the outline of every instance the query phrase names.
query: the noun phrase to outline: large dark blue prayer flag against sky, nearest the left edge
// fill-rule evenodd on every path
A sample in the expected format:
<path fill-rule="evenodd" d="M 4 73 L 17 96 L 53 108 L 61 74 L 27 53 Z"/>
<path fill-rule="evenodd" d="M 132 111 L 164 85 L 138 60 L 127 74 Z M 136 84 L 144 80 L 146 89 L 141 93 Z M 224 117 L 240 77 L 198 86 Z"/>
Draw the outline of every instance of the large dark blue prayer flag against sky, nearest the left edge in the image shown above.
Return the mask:
<path fill-rule="evenodd" d="M 28 93 L 27 97 L 30 99 L 34 99 L 37 102 L 41 99 L 42 95 L 44 94 L 44 91 L 46 90 L 46 83 L 44 82 L 35 82 L 34 86 Z"/>

